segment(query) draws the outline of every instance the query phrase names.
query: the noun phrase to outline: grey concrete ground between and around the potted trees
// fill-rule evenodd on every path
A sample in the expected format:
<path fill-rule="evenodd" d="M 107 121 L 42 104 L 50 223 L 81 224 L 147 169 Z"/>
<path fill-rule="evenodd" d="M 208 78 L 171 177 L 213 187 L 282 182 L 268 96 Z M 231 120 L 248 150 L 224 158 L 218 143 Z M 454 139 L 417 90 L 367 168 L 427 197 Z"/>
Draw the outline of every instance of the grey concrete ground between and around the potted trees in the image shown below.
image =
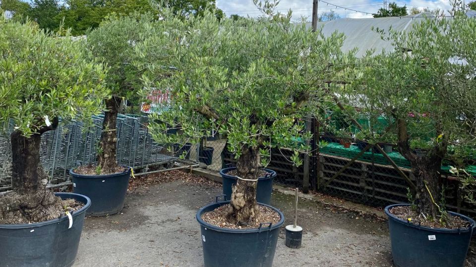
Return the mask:
<path fill-rule="evenodd" d="M 120 214 L 86 218 L 74 266 L 203 266 L 195 214 L 220 194 L 220 184 L 188 180 L 139 187 Z M 293 199 L 273 192 L 285 225 L 293 221 Z M 298 211 L 302 247 L 286 247 L 282 228 L 274 266 L 391 266 L 388 228 L 378 217 L 308 199 L 300 199 Z"/>

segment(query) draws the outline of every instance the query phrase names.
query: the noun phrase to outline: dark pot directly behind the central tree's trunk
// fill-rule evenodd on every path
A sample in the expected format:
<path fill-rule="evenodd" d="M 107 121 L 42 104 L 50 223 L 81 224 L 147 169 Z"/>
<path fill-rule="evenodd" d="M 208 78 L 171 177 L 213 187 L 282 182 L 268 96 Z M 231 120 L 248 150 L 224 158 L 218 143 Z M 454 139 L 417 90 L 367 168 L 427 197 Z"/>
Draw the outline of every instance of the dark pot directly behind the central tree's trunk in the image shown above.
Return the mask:
<path fill-rule="evenodd" d="M 236 169 L 237 167 L 224 168 L 220 170 L 220 175 L 223 177 L 223 194 L 227 199 L 232 199 L 232 187 L 237 183 L 236 176 L 228 175 L 227 172 Z M 256 186 L 256 201 L 269 205 L 271 202 L 271 193 L 273 192 L 273 179 L 276 177 L 276 171 L 264 169 L 270 175 L 258 178 Z"/>

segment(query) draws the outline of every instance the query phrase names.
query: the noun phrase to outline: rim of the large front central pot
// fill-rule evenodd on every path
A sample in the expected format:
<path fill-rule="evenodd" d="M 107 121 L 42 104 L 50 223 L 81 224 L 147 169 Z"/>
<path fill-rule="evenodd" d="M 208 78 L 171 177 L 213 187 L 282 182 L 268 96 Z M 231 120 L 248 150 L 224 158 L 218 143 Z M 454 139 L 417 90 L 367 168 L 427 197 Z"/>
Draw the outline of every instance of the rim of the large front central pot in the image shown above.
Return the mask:
<path fill-rule="evenodd" d="M 237 233 L 237 234 L 260 233 L 260 232 L 265 232 L 265 231 L 271 231 L 271 230 L 274 230 L 276 228 L 281 227 L 281 225 L 284 224 L 284 214 L 280 210 L 278 210 L 277 208 L 274 208 L 270 205 L 266 205 L 266 204 L 263 204 L 263 203 L 257 203 L 257 204 L 261 205 L 261 206 L 266 206 L 268 208 L 271 208 L 271 209 L 273 209 L 273 211 L 276 211 L 280 215 L 281 219 L 277 223 L 271 224 L 270 226 L 268 226 L 270 224 L 269 222 L 268 223 L 262 223 L 261 228 L 230 229 L 230 228 L 218 227 L 218 226 L 212 225 L 212 224 L 202 220 L 201 215 L 210 206 L 217 205 L 216 208 L 218 208 L 220 206 L 223 206 L 223 205 L 226 205 L 226 204 L 229 204 L 229 203 L 230 203 L 230 201 L 220 201 L 220 202 L 213 202 L 213 203 L 207 204 L 204 207 L 202 207 L 200 210 L 198 210 L 197 214 L 195 215 L 195 218 L 197 219 L 198 223 L 201 226 L 205 227 L 205 228 L 208 228 L 208 229 L 211 229 L 211 230 L 214 230 L 214 231 L 217 231 L 217 232 Z"/>

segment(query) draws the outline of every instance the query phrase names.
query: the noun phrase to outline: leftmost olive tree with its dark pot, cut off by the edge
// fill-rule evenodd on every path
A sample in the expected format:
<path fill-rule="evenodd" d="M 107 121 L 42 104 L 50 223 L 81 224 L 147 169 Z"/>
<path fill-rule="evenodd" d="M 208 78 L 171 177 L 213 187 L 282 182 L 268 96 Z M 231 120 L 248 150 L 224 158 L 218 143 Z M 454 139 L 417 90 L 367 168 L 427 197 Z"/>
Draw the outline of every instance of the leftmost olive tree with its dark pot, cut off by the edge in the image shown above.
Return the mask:
<path fill-rule="evenodd" d="M 40 143 L 60 119 L 101 111 L 106 72 L 83 45 L 0 14 L 0 120 L 13 125 L 12 192 L 0 196 L 2 266 L 71 266 L 76 258 L 90 200 L 45 188 Z"/>

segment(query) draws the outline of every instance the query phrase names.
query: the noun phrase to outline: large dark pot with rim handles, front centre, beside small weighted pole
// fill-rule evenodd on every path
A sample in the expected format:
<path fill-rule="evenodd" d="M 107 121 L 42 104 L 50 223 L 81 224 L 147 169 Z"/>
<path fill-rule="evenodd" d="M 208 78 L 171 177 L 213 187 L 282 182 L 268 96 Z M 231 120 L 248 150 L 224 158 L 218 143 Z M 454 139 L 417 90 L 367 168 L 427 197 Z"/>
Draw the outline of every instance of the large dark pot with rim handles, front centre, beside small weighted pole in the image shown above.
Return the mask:
<path fill-rule="evenodd" d="M 265 205 L 278 212 L 281 220 L 276 224 L 263 223 L 257 229 L 227 229 L 202 220 L 202 214 L 229 203 L 229 201 L 211 203 L 197 212 L 205 267 L 271 267 L 278 242 L 279 227 L 284 223 L 283 213 Z"/>

